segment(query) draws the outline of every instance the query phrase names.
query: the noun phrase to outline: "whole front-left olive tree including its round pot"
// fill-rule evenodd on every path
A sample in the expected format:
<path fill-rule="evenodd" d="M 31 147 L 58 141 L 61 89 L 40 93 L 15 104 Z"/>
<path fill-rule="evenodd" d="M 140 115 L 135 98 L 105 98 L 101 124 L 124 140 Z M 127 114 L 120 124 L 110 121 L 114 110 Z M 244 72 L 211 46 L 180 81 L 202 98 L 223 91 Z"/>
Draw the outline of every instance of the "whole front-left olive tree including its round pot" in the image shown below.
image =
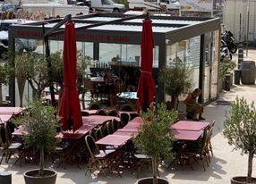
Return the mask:
<path fill-rule="evenodd" d="M 41 101 L 30 103 L 24 114 L 14 122 L 21 124 L 25 130 L 24 141 L 29 148 L 38 151 L 38 169 L 25 171 L 23 176 L 26 184 L 55 184 L 56 172 L 45 169 L 45 154 L 55 151 L 59 127 L 59 117 L 51 105 L 45 105 Z"/>

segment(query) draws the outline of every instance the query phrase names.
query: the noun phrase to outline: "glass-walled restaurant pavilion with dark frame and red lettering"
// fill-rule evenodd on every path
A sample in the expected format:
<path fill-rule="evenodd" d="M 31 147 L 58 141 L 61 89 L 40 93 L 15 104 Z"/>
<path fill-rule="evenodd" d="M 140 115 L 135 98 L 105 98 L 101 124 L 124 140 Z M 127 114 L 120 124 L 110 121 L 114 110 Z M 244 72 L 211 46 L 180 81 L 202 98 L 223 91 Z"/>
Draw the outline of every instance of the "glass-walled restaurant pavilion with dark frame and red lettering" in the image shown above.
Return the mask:
<path fill-rule="evenodd" d="M 73 17 L 77 50 L 92 58 L 90 69 L 108 68 L 124 81 L 125 91 L 136 91 L 140 77 L 142 21 L 147 16 L 123 13 L 93 13 Z M 165 84 L 158 81 L 159 72 L 178 59 L 192 69 L 193 88 L 201 88 L 201 103 L 218 97 L 218 65 L 220 20 L 218 18 L 172 17 L 149 14 L 154 37 L 153 78 L 158 89 L 158 102 L 169 100 Z M 44 33 L 53 29 L 62 18 L 13 25 L 9 30 L 9 47 L 14 51 L 15 41 L 37 40 L 33 52 L 45 55 Z M 43 25 L 45 31 L 43 31 Z M 63 50 L 64 25 L 49 35 L 50 53 Z M 23 52 L 26 52 L 25 50 Z M 92 72 L 92 70 L 90 71 Z M 97 73 L 98 74 L 98 73 Z M 9 87 L 9 98 L 19 105 L 15 84 Z M 24 96 L 30 98 L 30 88 Z"/>

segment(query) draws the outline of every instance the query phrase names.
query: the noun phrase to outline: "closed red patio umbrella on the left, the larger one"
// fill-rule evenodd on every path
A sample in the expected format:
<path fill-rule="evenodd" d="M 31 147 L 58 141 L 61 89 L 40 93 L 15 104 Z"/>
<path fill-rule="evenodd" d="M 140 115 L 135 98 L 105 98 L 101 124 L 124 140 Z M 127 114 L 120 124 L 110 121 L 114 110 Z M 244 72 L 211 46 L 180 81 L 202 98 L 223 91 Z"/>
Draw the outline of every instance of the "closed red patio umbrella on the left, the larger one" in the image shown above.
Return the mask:
<path fill-rule="evenodd" d="M 76 90 L 76 37 L 73 21 L 67 21 L 64 29 L 64 89 L 58 114 L 62 117 L 62 130 L 69 130 L 73 122 L 73 131 L 82 125 L 81 106 Z"/>

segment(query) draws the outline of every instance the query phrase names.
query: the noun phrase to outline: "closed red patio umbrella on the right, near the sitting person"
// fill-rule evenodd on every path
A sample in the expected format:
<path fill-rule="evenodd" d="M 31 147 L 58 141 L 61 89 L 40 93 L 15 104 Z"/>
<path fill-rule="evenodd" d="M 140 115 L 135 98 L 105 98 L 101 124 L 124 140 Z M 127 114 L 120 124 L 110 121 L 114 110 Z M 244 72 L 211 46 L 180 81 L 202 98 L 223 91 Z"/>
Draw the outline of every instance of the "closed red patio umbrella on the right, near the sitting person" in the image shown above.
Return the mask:
<path fill-rule="evenodd" d="M 154 39 L 152 23 L 149 18 L 143 20 L 141 33 L 141 76 L 137 90 L 139 98 L 139 111 L 147 111 L 153 102 L 153 97 L 157 96 L 155 81 L 152 77 Z"/>

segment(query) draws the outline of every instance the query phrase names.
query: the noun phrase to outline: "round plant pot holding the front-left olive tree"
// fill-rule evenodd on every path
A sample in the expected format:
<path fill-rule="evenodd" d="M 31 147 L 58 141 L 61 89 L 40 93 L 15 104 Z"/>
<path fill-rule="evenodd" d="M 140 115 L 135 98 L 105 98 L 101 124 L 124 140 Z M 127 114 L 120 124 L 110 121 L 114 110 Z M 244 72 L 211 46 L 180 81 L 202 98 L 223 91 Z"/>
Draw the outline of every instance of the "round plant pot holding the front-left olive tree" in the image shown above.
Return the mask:
<path fill-rule="evenodd" d="M 44 169 L 44 176 L 38 176 L 37 170 L 25 171 L 23 176 L 26 184 L 55 184 L 57 172 Z"/>

